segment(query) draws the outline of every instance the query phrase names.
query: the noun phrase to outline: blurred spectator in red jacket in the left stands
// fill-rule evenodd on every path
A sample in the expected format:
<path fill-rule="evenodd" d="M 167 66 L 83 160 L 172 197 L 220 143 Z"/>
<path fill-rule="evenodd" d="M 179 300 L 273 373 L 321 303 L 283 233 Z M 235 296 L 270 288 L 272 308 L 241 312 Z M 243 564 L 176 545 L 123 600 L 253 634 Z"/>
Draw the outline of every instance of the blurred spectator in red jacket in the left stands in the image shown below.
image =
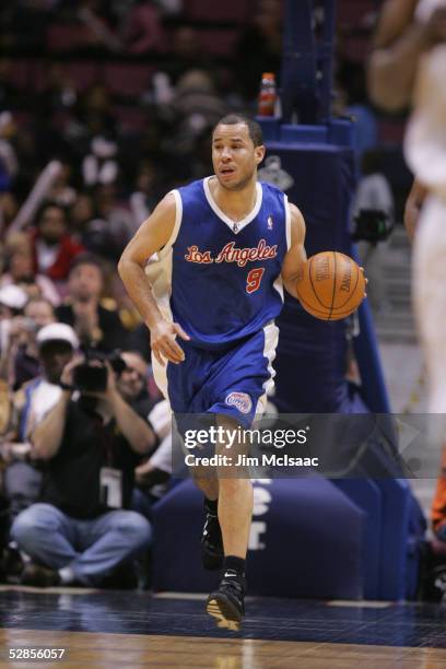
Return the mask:
<path fill-rule="evenodd" d="M 40 208 L 31 240 L 34 271 L 54 281 L 66 280 L 73 258 L 84 250 L 68 233 L 66 210 L 51 202 Z"/>

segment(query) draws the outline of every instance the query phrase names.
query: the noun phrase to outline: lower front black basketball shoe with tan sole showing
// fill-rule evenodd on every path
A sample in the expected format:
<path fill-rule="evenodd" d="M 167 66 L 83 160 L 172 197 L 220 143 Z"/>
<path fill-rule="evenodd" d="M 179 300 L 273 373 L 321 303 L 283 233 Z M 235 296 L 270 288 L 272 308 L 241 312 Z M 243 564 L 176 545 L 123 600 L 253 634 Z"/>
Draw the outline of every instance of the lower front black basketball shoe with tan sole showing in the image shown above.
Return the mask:
<path fill-rule="evenodd" d="M 219 589 L 208 597 L 206 610 L 215 618 L 219 627 L 238 632 L 245 615 L 246 582 L 231 570 L 226 571 Z"/>

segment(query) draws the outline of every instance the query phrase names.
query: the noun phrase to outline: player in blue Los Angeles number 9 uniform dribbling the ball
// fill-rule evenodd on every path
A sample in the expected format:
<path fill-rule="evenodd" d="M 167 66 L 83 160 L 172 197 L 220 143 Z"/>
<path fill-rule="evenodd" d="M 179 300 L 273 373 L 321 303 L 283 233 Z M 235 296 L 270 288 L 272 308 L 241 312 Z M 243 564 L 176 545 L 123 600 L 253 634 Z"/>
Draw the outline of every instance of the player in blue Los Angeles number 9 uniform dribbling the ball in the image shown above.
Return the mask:
<path fill-rule="evenodd" d="M 249 426 L 263 410 L 282 285 L 297 298 L 306 260 L 301 212 L 278 188 L 257 181 L 265 151 L 257 122 L 222 118 L 212 134 L 215 174 L 169 192 L 119 262 L 150 329 L 155 378 L 173 411 L 214 414 L 225 430 Z M 232 446 L 231 455 L 242 448 Z M 238 629 L 253 486 L 247 477 L 196 476 L 196 482 L 206 496 L 203 564 L 223 563 L 207 611 L 219 626 Z"/>

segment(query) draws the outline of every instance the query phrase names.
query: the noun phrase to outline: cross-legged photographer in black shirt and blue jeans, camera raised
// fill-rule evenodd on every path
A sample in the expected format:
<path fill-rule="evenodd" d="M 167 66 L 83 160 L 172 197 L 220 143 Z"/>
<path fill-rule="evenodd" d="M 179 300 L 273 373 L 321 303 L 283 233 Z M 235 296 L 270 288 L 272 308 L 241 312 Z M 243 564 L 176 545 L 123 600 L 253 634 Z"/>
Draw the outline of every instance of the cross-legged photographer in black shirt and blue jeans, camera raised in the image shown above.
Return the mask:
<path fill-rule="evenodd" d="M 33 560 L 22 583 L 97 586 L 150 545 L 149 521 L 125 509 L 134 468 L 157 437 L 118 391 L 108 361 L 73 360 L 61 387 L 31 435 L 34 457 L 46 462 L 42 501 L 17 516 L 11 535 Z"/>

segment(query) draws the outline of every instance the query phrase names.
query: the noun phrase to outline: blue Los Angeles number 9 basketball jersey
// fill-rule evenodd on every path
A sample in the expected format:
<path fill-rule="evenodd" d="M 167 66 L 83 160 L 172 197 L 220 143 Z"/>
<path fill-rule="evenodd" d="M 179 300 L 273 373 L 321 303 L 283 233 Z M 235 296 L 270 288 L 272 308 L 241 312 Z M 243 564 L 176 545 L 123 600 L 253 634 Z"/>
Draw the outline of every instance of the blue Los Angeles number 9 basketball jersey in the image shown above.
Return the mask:
<path fill-rule="evenodd" d="M 173 191 L 177 220 L 160 258 L 169 274 L 164 312 L 192 345 L 212 350 L 258 332 L 279 315 L 291 233 L 287 198 L 278 188 L 258 183 L 253 211 L 233 222 L 212 198 L 209 178 Z"/>

